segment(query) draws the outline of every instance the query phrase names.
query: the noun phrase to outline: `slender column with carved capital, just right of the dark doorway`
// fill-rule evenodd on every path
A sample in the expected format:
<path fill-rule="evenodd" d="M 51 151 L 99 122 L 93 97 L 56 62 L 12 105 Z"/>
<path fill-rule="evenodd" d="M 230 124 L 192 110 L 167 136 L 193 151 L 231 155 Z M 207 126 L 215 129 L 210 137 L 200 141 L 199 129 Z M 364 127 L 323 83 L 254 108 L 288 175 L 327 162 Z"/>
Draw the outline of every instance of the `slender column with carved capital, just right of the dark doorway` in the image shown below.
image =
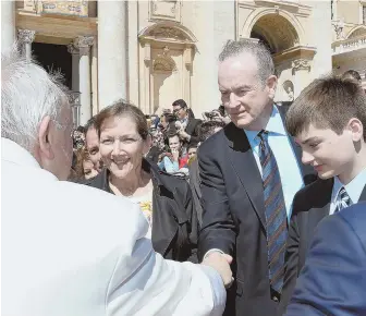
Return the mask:
<path fill-rule="evenodd" d="M 93 36 L 78 36 L 73 41 L 73 45 L 80 51 L 78 87 L 81 93 L 82 125 L 91 118 L 90 47 L 93 42 Z"/>

